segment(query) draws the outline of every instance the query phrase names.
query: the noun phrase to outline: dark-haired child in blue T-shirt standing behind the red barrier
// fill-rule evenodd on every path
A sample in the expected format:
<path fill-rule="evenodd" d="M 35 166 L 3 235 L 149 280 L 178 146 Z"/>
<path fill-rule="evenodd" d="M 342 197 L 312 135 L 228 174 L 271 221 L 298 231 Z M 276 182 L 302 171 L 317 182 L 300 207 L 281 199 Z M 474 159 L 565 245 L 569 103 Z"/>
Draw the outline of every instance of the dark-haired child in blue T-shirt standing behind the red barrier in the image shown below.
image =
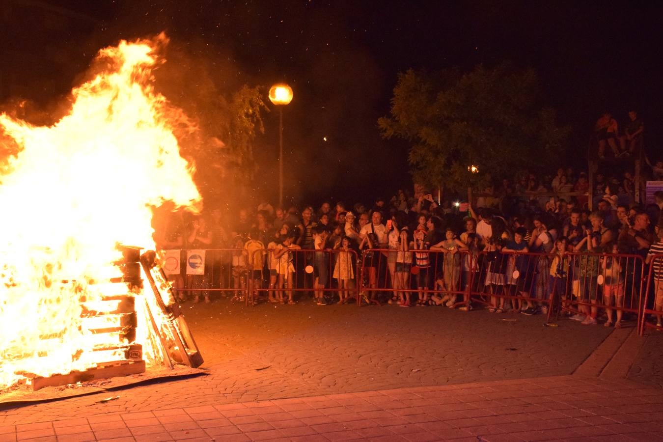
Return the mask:
<path fill-rule="evenodd" d="M 513 234 L 513 240 L 509 241 L 502 252 L 509 254 L 509 262 L 507 264 L 507 292 L 510 296 L 522 296 L 522 298 L 514 298 L 512 305 L 514 311 L 523 311 L 526 309 L 534 309 L 532 301 L 529 297 L 524 296 L 525 280 L 527 278 L 528 270 L 528 253 L 529 249 L 525 241 L 527 229 L 524 227 L 516 228 Z M 516 273 L 517 272 L 517 273 Z"/>

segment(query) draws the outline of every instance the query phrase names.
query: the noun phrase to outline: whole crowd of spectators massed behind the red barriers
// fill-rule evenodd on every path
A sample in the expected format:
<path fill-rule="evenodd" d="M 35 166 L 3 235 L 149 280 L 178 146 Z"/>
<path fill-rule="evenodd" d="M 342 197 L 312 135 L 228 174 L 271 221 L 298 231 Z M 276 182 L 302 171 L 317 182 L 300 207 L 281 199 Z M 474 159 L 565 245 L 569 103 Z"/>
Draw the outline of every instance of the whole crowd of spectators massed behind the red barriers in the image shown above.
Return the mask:
<path fill-rule="evenodd" d="M 324 305 L 343 303 L 362 286 L 369 302 L 383 295 L 389 298 L 383 301 L 404 307 L 444 304 L 463 309 L 471 308 L 470 303 L 461 302 L 467 300 L 462 290 L 478 267 L 473 264 L 477 256 L 540 252 L 543 258 L 532 261 L 534 279 L 528 280 L 528 288 L 509 286 L 512 270 L 522 265 L 515 259 L 505 259 L 501 270 L 487 266 L 481 274 L 486 286 L 497 287 L 494 293 L 515 290 L 524 299 L 507 301 L 507 305 L 504 298 L 491 299 L 489 311 L 511 309 L 532 315 L 546 312 L 540 301 L 560 284 L 554 268 L 568 266 L 564 252 L 619 252 L 646 259 L 652 247 L 661 247 L 658 227 L 663 192 L 656 194 L 656 204 L 644 207 L 632 202 L 629 173 L 619 178 L 597 174 L 595 184 L 599 196 L 594 211 L 587 209 L 586 174 L 576 176 L 573 170 L 560 168 L 546 180 L 528 173 L 519 174 L 513 182 L 503 180 L 497 190 L 491 187 L 481 193 L 474 205 L 453 199 L 436 201 L 429 192 L 413 195 L 398 190 L 391 198 L 377 198 L 368 206 L 326 201 L 319 207 L 299 209 L 261 201 L 255 208 L 239 209 L 229 220 L 219 209 L 200 217 L 176 213 L 158 247 L 227 250 L 225 258 L 208 255 L 205 275 L 189 278 L 181 272 L 172 276 L 177 293 L 196 302 L 201 298 L 210 302 L 217 294 L 227 293 L 214 289 L 227 289 L 235 296 L 250 289 L 254 302 L 295 304 L 312 295 L 316 304 Z M 548 186 L 556 195 L 549 195 Z M 432 252 L 442 254 L 439 265 L 432 264 Z M 365 268 L 363 284 L 357 281 L 359 260 Z M 598 260 L 595 267 L 593 277 L 606 269 L 626 270 Z M 396 291 L 381 290 L 386 288 Z M 613 298 L 619 302 L 619 296 Z M 663 290 L 657 303 L 663 304 Z M 573 319 L 595 324 L 597 313 L 594 307 L 581 307 Z M 606 323 L 613 324 L 611 315 Z M 614 323 L 621 324 L 621 311 Z"/>

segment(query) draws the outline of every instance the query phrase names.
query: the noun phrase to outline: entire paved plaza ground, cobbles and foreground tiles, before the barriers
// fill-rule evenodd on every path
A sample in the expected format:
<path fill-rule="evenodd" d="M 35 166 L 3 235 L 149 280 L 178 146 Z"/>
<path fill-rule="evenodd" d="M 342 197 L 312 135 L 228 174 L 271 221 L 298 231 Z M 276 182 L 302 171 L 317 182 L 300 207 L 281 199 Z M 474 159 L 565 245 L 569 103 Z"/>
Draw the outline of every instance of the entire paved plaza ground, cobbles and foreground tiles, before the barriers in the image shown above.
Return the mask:
<path fill-rule="evenodd" d="M 208 374 L 0 410 L 0 441 L 663 439 L 661 338 L 632 327 L 394 305 L 184 311 Z"/>

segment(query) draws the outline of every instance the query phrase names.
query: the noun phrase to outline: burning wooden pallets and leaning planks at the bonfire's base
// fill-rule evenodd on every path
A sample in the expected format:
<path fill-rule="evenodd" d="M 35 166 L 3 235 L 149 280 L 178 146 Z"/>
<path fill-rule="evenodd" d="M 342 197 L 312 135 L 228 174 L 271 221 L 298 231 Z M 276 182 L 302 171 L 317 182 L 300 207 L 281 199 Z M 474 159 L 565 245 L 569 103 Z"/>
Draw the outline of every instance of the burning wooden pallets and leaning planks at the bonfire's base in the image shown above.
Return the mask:
<path fill-rule="evenodd" d="M 95 302 L 93 307 L 85 302 L 81 304 L 81 317 L 87 326 L 86 330 L 98 335 L 99 341 L 104 343 L 94 349 L 98 353 L 99 362 L 88 370 L 74 370 L 67 374 L 38 376 L 21 373 L 29 380 L 32 390 L 145 372 L 143 345 L 135 343 L 137 311 L 147 315 L 147 324 L 151 327 L 147 333 L 151 348 L 158 349 L 160 359 L 166 366 L 173 368 L 175 363 L 179 363 L 197 368 L 203 363 L 182 311 L 174 302 L 166 275 L 156 264 L 156 254 L 149 251 L 141 256 L 140 249 L 135 247 L 121 247 L 121 250 L 123 260 L 115 262 L 115 266 L 122 270 L 123 276 L 104 283 L 109 293 L 102 296 L 101 301 Z M 143 286 L 143 277 L 149 283 L 147 287 Z M 75 282 L 63 281 L 62 284 Z M 142 304 L 137 306 L 137 302 Z M 117 345 L 108 344 L 113 341 L 109 337 L 111 333 L 117 335 Z M 57 339 L 57 336 L 44 339 Z M 105 360 L 108 355 L 118 354 L 123 357 Z"/>

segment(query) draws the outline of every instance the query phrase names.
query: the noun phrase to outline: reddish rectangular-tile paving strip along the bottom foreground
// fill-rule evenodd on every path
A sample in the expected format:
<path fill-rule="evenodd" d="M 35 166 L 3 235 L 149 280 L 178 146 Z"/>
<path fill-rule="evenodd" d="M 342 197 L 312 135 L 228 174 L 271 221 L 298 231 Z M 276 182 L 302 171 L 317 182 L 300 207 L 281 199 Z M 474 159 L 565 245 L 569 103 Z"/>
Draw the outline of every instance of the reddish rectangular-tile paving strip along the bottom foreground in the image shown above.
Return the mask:
<path fill-rule="evenodd" d="M 557 376 L 38 421 L 0 426 L 0 441 L 661 441 L 662 432 L 659 389 Z"/>

